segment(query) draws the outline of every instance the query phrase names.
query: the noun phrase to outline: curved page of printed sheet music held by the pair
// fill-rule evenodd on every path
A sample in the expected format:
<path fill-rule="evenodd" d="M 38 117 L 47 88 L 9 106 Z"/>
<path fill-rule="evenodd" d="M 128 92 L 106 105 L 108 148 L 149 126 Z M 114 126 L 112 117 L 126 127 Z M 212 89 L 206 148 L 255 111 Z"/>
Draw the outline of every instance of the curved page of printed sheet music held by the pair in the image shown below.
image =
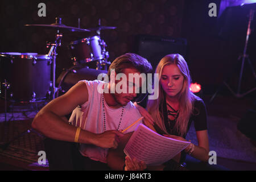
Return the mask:
<path fill-rule="evenodd" d="M 189 143 L 191 142 L 163 137 L 141 123 L 123 151 L 131 158 L 142 160 L 149 165 L 158 165 L 172 159 Z"/>

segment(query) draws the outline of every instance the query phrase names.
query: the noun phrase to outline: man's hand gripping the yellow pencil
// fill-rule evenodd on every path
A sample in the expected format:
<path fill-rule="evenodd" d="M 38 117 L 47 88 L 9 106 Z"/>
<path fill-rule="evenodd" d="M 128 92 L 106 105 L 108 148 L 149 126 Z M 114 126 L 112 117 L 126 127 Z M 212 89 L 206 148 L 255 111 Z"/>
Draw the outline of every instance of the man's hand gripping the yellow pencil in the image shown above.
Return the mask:
<path fill-rule="evenodd" d="M 123 133 L 117 130 L 109 130 L 104 133 L 97 134 L 95 145 L 102 148 L 117 148 L 120 142 L 119 137 L 123 137 Z"/>

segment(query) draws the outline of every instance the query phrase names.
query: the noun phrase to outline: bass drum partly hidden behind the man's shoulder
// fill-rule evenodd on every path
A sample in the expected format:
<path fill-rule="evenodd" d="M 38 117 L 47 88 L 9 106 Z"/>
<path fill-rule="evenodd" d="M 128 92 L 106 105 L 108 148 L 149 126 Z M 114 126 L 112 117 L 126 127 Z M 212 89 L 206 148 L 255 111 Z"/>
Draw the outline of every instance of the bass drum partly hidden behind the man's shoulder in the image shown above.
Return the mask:
<path fill-rule="evenodd" d="M 81 66 L 75 66 L 63 71 L 56 81 L 56 84 L 58 85 L 56 97 L 68 92 L 68 90 L 80 80 L 97 80 L 100 73 L 107 74 L 108 72 L 104 70 L 84 68 Z"/>

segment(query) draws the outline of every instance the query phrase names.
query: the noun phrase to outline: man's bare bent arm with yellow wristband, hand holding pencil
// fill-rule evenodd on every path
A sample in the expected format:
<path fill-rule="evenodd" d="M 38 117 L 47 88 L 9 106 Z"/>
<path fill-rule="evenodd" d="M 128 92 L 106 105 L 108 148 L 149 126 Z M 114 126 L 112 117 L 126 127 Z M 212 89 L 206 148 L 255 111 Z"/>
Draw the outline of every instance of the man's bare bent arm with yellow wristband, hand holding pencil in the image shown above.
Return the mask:
<path fill-rule="evenodd" d="M 63 96 L 55 98 L 43 107 L 36 114 L 32 127 L 40 131 L 46 137 L 74 142 L 77 127 L 69 125 L 64 121 L 65 115 L 71 113 L 78 105 L 88 101 L 88 90 L 84 82 L 74 85 Z M 94 144 L 102 148 L 116 148 L 117 141 L 115 137 L 123 134 L 118 131 L 107 131 L 102 134 L 94 134 L 89 131 L 81 130 L 79 143 Z"/>

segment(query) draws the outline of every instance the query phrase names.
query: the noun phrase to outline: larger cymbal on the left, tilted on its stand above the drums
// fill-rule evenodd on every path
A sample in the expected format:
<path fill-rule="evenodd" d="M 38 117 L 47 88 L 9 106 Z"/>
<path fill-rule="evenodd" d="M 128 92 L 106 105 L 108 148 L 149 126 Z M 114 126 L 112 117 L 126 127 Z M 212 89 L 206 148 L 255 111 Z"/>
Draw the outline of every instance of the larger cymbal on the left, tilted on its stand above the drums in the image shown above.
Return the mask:
<path fill-rule="evenodd" d="M 61 23 L 52 23 L 52 24 L 25 24 L 27 27 L 45 27 L 45 28 L 52 28 L 55 30 L 61 31 L 71 31 L 71 32 L 89 32 L 90 30 L 76 28 L 76 27 L 69 27 L 65 26 L 65 24 Z"/>

